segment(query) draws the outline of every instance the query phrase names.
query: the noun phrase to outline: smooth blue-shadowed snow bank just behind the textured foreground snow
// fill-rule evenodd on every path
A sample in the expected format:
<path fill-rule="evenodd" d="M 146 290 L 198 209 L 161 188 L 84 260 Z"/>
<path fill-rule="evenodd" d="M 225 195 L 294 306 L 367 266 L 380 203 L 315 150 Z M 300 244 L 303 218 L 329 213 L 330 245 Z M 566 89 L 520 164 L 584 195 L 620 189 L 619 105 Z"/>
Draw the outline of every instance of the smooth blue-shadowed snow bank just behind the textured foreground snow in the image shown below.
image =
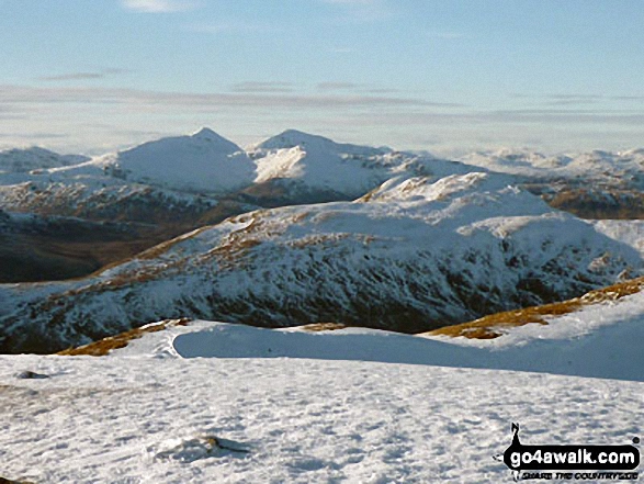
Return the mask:
<path fill-rule="evenodd" d="M 346 328 L 263 329 L 205 320 L 145 334 L 110 357 L 297 358 L 354 360 L 566 374 L 644 382 L 644 293 L 610 311 L 513 328 L 497 339 L 465 340 Z M 613 307 L 614 308 L 614 307 Z"/>

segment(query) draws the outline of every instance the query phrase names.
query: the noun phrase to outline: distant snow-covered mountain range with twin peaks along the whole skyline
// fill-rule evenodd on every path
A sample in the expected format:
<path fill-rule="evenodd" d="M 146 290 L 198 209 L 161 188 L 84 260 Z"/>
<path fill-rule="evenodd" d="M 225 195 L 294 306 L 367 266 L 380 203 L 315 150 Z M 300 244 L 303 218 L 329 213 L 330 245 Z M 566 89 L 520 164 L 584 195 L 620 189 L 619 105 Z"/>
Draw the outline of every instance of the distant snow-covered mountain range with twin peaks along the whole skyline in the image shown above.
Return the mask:
<path fill-rule="evenodd" d="M 171 218 L 204 199 L 208 209 L 189 211 L 202 213 L 222 199 L 264 207 L 348 201 L 397 176 L 438 179 L 471 171 L 509 175 L 515 184 L 586 218 L 644 213 L 644 149 L 560 156 L 501 149 L 444 160 L 294 130 L 246 150 L 202 128 L 92 159 L 37 147 L 0 151 L 0 203 L 15 212 L 149 221 L 145 209 L 129 206 L 149 199 L 151 206 L 166 205 L 163 216 Z"/>

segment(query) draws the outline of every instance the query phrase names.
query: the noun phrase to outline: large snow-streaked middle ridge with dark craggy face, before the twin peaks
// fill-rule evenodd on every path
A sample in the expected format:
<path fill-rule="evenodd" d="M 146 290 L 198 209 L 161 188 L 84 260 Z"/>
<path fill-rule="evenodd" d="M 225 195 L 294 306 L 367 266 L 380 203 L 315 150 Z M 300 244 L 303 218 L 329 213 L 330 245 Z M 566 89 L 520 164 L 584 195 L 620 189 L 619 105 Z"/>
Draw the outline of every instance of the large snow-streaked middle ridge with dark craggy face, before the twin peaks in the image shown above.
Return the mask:
<path fill-rule="evenodd" d="M 641 269 L 631 247 L 507 182 L 392 180 L 352 203 L 240 215 L 83 281 L 3 286 L 0 347 L 54 351 L 182 316 L 417 333 Z"/>

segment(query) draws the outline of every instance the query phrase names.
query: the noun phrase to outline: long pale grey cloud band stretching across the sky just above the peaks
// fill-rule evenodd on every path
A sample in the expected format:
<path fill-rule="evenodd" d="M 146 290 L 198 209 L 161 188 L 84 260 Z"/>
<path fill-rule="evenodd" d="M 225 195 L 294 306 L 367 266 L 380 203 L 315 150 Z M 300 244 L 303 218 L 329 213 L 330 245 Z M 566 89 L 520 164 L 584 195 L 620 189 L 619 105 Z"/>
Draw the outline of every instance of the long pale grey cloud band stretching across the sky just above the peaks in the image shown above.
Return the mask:
<path fill-rule="evenodd" d="M 339 83 L 339 82 L 338 82 Z M 426 123 L 467 123 L 468 125 L 500 123 L 577 123 L 607 125 L 642 125 L 642 110 L 619 109 L 518 109 L 465 111 L 463 104 L 436 102 L 427 99 L 394 95 L 361 94 L 352 91 L 319 92 L 302 94 L 275 92 L 276 86 L 285 82 L 267 82 L 265 86 L 242 83 L 241 87 L 264 92 L 227 92 L 227 93 L 190 93 L 147 91 L 136 89 L 110 89 L 99 87 L 48 87 L 0 86 L 0 113 L 7 115 L 38 112 L 41 106 L 52 104 L 114 105 L 137 112 L 180 112 L 212 113 L 223 109 L 248 110 L 249 112 L 301 112 L 305 109 L 327 112 L 353 113 L 365 115 L 372 122 L 400 125 Z M 349 85 L 349 83 L 346 83 Z M 347 86 L 348 87 L 348 86 Z M 560 94 L 557 94 L 560 95 Z M 259 111 L 258 111 L 259 110 Z M 349 111 L 348 111 L 349 110 Z"/>

